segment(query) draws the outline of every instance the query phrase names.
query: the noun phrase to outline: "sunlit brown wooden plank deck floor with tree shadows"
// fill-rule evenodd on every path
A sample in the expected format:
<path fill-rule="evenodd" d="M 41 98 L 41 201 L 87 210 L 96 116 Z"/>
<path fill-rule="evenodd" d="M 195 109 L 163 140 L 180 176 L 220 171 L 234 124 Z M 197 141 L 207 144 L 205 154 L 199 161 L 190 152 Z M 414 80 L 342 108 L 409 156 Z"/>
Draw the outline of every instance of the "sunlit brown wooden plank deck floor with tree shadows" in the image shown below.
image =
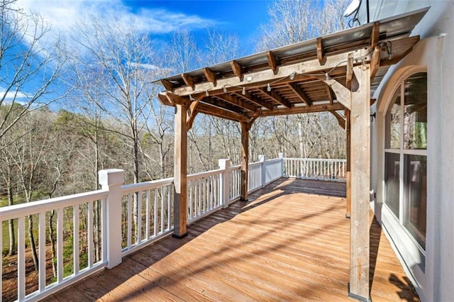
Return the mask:
<path fill-rule="evenodd" d="M 345 184 L 279 179 L 48 301 L 353 301 L 336 196 Z M 419 301 L 376 220 L 370 238 L 372 301 Z"/>

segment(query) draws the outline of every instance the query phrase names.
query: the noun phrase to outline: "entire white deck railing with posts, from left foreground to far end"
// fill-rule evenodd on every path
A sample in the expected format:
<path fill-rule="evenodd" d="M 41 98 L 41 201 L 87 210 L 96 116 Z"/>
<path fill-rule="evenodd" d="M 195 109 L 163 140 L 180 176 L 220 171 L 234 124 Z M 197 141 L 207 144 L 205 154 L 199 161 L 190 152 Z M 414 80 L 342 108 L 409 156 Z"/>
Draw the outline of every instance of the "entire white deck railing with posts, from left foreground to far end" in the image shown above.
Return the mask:
<path fill-rule="evenodd" d="M 279 158 L 248 165 L 248 192 L 264 187 L 280 177 L 344 179 L 345 160 Z M 17 226 L 17 293 L 19 301 L 34 301 L 92 274 L 112 268 L 121 258 L 173 233 L 174 179 L 123 185 L 119 169 L 99 172 L 102 189 L 84 194 L 52 198 L 0 208 L 0 222 L 13 220 Z M 194 221 L 226 208 L 240 198 L 240 166 L 219 160 L 219 169 L 187 176 L 187 221 Z M 31 217 L 37 236 L 38 276 L 26 276 L 26 225 Z M 54 228 L 55 227 L 55 228 Z M 50 228 L 54 228 L 50 230 Z M 55 240 L 51 242 L 50 233 Z M 0 247 L 3 236 L 0 235 Z M 55 249 L 52 249 L 55 243 Z M 45 248 L 40 248 L 45 247 Z M 51 250 L 56 251 L 52 257 Z M 3 259 L 3 258 L 2 258 Z M 0 259 L 0 267 L 2 267 Z M 46 267 L 55 262 L 55 278 Z M 11 264 L 9 264 L 11 267 Z M 11 271 L 11 269 L 10 269 Z M 0 274 L 1 280 L 4 270 Z M 34 286 L 30 286 L 30 283 Z M 26 286 L 27 284 L 27 286 Z M 34 289 L 37 289 L 33 293 Z M 0 300 L 1 301 L 1 300 Z"/>

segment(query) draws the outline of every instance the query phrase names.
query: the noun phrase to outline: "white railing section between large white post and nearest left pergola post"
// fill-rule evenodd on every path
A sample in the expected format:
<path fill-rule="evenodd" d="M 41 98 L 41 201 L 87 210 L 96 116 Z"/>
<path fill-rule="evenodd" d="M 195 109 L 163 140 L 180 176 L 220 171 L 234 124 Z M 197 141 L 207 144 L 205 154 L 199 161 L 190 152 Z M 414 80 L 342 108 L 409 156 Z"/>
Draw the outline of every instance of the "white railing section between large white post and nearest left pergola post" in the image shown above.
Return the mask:
<path fill-rule="evenodd" d="M 122 255 L 173 231 L 173 178 L 121 186 Z"/>

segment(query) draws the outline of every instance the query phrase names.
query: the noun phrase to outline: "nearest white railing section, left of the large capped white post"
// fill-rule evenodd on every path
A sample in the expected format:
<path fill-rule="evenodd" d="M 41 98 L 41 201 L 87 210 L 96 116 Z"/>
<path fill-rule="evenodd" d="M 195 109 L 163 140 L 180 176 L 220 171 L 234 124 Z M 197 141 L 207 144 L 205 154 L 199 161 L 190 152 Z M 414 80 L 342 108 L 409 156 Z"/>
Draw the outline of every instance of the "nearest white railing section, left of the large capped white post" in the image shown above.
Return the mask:
<path fill-rule="evenodd" d="M 2 225 L 4 221 L 13 220 L 17 226 L 17 261 L 8 264 L 17 267 L 17 292 L 13 299 L 38 300 L 106 267 L 104 233 L 106 232 L 107 196 L 106 190 L 99 190 L 0 208 Z M 95 225 L 94 221 L 99 221 L 99 225 Z M 33 228 L 33 233 L 37 232 L 35 243 L 38 250 L 38 280 L 33 284 L 37 290 L 33 293 L 30 292 L 33 287 L 26 282 L 26 258 L 30 254 L 26 252 L 26 233 L 28 232 L 26 228 L 30 223 L 38 227 Z M 52 235 L 49 225 L 55 226 L 52 237 L 55 238 L 56 276 L 53 280 L 52 276 L 46 274 L 46 267 L 52 266 L 52 259 L 46 256 L 46 253 L 51 253 L 52 248 L 47 242 L 48 236 Z M 99 233 L 97 233 L 98 228 L 101 229 Z M 101 237 L 98 234 L 101 234 Z M 96 250 L 95 245 L 99 250 Z M 3 247 L 2 236 L 0 236 L 0 247 Z M 64 257 L 64 251 L 70 256 Z M 2 260 L 3 257 L 0 259 L 3 273 Z M 1 276 L 2 274 L 0 274 L 0 289 L 2 288 Z"/>

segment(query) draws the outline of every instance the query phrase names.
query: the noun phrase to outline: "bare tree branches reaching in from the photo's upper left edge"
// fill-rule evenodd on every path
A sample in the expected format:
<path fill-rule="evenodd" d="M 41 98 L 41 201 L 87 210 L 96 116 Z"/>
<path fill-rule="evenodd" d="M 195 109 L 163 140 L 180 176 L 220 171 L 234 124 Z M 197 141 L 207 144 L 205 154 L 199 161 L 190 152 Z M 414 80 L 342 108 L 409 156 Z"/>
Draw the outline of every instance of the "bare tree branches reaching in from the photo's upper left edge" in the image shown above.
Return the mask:
<path fill-rule="evenodd" d="M 65 72 L 64 43 L 36 13 L 0 1 L 0 138 L 31 110 L 60 99 Z M 21 106 L 17 106 L 21 104 Z"/>

